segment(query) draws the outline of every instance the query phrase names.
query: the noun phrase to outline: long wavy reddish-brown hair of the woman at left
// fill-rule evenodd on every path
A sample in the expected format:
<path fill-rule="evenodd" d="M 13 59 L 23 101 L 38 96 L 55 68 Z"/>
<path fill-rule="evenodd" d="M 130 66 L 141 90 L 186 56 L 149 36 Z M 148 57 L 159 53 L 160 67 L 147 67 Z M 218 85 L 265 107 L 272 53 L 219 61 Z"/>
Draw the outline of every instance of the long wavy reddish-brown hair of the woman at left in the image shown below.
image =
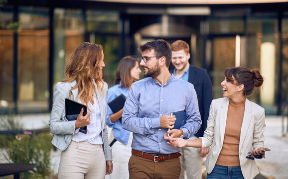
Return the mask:
<path fill-rule="evenodd" d="M 76 85 L 70 90 L 69 98 L 73 89 L 78 88 L 78 97 L 82 103 L 88 105 L 88 101 L 92 104 L 95 86 L 93 79 L 97 84 L 97 89 L 103 93 L 102 71 L 100 63 L 104 59 L 103 49 L 101 45 L 90 42 L 81 43 L 71 54 L 68 64 L 65 68 L 66 78 L 62 82 L 72 82 L 76 80 Z"/>

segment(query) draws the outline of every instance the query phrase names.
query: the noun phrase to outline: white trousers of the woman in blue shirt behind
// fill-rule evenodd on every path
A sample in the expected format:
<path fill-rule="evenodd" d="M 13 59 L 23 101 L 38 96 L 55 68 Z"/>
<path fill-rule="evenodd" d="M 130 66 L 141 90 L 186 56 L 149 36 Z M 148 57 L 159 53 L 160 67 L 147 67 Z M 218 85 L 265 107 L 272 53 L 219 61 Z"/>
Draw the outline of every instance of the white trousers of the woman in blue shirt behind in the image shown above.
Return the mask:
<path fill-rule="evenodd" d="M 129 179 L 128 162 L 131 157 L 133 134 L 130 133 L 127 145 L 116 141 L 112 148 L 113 172 L 106 179 Z"/>

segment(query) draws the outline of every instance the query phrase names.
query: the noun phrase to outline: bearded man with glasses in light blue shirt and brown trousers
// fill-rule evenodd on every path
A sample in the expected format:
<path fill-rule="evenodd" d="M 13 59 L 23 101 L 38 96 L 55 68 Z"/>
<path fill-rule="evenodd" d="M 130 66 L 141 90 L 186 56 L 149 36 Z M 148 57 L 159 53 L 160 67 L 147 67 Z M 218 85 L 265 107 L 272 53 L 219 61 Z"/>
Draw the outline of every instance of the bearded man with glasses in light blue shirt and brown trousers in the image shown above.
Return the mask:
<path fill-rule="evenodd" d="M 123 128 L 133 132 L 129 177 L 178 179 L 180 149 L 169 146 L 164 134 L 188 139 L 198 131 L 202 121 L 197 95 L 192 84 L 169 73 L 168 42 L 150 41 L 138 50 L 147 78 L 132 84 L 122 114 Z M 186 113 L 186 123 L 179 129 L 173 129 L 176 117 L 171 111 Z"/>

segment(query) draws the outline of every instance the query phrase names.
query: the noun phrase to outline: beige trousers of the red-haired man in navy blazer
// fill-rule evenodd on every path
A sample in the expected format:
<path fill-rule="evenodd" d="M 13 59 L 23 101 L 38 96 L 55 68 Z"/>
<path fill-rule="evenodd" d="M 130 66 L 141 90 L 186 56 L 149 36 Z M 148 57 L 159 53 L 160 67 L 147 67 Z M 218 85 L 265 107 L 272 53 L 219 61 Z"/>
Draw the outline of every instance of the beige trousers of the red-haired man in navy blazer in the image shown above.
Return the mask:
<path fill-rule="evenodd" d="M 198 139 L 190 137 L 189 140 Z M 203 159 L 199 148 L 183 147 L 180 150 L 181 175 L 179 179 L 202 179 Z M 186 176 L 185 176 L 186 173 Z"/>

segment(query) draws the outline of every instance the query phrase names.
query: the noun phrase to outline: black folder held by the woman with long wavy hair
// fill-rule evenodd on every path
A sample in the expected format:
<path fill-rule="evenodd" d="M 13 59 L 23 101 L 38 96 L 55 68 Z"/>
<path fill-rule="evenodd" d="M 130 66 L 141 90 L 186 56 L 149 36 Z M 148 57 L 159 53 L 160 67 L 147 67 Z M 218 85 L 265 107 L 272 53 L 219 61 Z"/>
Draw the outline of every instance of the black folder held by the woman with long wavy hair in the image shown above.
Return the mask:
<path fill-rule="evenodd" d="M 65 98 L 65 117 L 71 121 L 76 120 L 81 109 L 84 108 L 83 116 L 87 114 L 87 106 L 77 101 Z M 87 126 L 80 127 L 79 132 L 87 133 Z"/>

